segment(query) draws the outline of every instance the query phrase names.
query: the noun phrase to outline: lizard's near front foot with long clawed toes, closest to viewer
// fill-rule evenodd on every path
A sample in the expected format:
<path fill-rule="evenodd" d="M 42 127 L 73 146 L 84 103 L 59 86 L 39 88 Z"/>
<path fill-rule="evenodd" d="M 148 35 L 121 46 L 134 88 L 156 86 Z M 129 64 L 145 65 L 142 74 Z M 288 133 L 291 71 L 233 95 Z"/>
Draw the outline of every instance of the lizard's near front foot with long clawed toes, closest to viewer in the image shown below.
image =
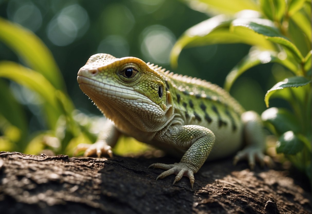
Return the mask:
<path fill-rule="evenodd" d="M 167 170 L 161 173 L 160 175 L 158 175 L 158 177 L 156 178 L 156 181 L 158 180 L 158 178 L 165 178 L 168 175 L 175 174 L 177 175 L 173 181 L 173 184 L 175 184 L 175 182 L 179 181 L 183 176 L 186 176 L 190 179 L 191 187 L 193 189 L 193 185 L 195 182 L 194 171 L 197 171 L 193 165 L 189 163 L 181 163 L 181 162 L 174 163 L 174 164 L 153 163 L 148 168 L 150 167 Z"/>

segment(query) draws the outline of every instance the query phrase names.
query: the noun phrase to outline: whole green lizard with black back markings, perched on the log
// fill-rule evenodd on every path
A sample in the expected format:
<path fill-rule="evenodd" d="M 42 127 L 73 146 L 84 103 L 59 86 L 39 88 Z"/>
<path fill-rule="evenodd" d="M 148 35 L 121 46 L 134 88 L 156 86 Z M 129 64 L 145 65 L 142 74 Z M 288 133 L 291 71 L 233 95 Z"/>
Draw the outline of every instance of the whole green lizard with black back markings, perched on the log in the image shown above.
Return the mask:
<path fill-rule="evenodd" d="M 208 159 L 222 158 L 247 146 L 234 164 L 247 158 L 265 163 L 265 136 L 261 119 L 247 111 L 225 90 L 205 80 L 169 73 L 136 57 L 109 54 L 90 57 L 79 72 L 80 89 L 110 120 L 94 144 L 80 144 L 85 156 L 108 154 L 121 134 L 152 144 L 174 155 L 179 163 L 154 163 L 166 171 L 157 178 L 176 174 L 194 184 L 194 173 Z"/>

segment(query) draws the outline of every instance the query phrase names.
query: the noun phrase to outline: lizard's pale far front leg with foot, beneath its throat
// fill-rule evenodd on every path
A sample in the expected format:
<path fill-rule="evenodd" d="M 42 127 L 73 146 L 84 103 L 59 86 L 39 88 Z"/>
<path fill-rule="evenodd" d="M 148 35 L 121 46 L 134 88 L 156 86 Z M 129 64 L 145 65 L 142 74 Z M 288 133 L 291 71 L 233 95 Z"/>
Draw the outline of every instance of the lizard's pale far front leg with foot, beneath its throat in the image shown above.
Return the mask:
<path fill-rule="evenodd" d="M 112 158 L 113 152 L 111 148 L 115 146 L 121 133 L 118 129 L 116 129 L 115 124 L 111 120 L 107 120 L 103 127 L 105 127 L 105 129 L 100 132 L 95 143 L 78 144 L 74 155 L 85 150 L 85 157 L 96 154 L 98 157 L 101 155 L 109 155 L 110 158 Z"/>

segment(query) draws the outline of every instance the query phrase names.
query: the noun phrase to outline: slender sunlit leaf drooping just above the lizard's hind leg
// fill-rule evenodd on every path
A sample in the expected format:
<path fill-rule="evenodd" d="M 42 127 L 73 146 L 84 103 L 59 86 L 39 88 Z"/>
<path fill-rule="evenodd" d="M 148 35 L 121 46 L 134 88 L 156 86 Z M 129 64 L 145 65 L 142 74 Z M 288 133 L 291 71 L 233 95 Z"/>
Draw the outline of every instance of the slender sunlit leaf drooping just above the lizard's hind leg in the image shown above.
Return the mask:
<path fill-rule="evenodd" d="M 277 62 L 281 65 L 287 67 L 294 73 L 297 72 L 297 66 L 295 66 L 292 62 L 290 62 L 287 58 L 280 59 L 280 55 L 283 53 L 278 53 L 276 51 L 262 51 L 255 47 L 251 48 L 251 51 L 245 56 L 241 62 L 236 65 L 227 75 L 224 89 L 229 91 L 234 83 L 234 81 L 245 71 L 260 64 L 266 64 L 269 62 Z"/>

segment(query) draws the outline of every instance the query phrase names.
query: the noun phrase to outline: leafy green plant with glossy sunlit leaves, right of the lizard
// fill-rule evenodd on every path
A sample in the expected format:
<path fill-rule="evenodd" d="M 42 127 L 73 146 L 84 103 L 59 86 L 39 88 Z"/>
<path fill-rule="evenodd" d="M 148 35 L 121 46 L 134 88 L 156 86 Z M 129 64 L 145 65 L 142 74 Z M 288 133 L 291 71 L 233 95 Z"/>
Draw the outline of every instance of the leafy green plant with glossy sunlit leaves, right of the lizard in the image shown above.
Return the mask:
<path fill-rule="evenodd" d="M 171 52 L 177 66 L 184 48 L 217 43 L 251 45 L 249 54 L 227 75 L 224 88 L 251 67 L 277 63 L 291 72 L 278 79 L 265 95 L 289 102 L 291 110 L 270 108 L 262 113 L 267 127 L 278 138 L 283 153 L 311 178 L 311 1 L 306 0 L 184 0 L 191 8 L 213 16 L 189 28 Z"/>

